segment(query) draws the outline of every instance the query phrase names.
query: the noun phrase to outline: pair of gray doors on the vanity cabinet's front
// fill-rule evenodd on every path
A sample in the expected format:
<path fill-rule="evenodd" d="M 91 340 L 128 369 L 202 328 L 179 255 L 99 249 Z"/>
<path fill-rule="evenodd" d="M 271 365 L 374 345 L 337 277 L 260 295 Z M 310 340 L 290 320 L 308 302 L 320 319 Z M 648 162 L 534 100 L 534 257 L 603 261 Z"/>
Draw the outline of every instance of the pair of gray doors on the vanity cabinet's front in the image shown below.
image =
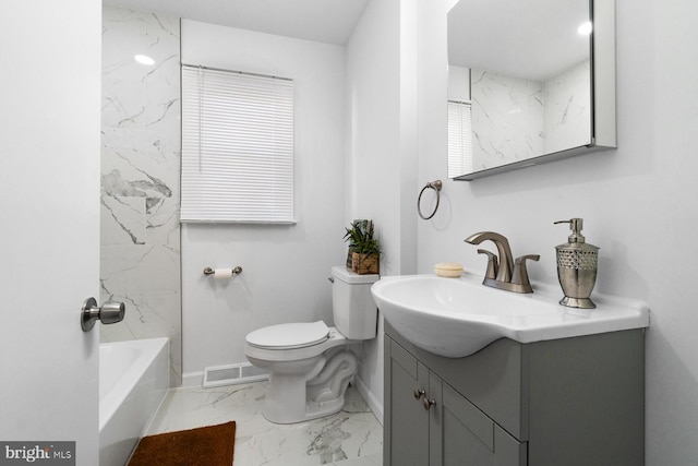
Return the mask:
<path fill-rule="evenodd" d="M 526 444 L 388 336 L 385 349 L 385 465 L 526 466 Z"/>

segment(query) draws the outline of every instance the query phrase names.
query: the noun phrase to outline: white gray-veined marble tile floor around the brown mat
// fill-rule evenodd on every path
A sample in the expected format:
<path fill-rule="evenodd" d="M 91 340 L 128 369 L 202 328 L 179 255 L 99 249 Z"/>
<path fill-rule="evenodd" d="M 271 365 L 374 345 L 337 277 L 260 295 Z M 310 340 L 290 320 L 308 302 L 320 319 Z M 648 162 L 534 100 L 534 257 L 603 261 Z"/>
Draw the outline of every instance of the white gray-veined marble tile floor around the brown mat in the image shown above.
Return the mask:
<path fill-rule="evenodd" d="M 345 408 L 322 419 L 275 425 L 262 416 L 266 382 L 168 392 L 146 434 L 234 420 L 234 466 L 376 466 L 383 464 L 383 427 L 349 386 Z"/>

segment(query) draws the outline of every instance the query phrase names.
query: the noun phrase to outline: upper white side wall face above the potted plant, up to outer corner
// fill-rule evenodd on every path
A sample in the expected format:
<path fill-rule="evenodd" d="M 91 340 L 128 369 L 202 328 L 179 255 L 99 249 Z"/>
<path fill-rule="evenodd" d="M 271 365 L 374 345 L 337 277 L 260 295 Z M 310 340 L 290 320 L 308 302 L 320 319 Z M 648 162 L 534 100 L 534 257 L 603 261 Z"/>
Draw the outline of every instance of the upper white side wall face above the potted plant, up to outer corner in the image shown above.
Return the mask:
<path fill-rule="evenodd" d="M 347 46 L 351 218 L 372 218 L 383 275 L 399 272 L 399 2 L 373 0 Z"/>

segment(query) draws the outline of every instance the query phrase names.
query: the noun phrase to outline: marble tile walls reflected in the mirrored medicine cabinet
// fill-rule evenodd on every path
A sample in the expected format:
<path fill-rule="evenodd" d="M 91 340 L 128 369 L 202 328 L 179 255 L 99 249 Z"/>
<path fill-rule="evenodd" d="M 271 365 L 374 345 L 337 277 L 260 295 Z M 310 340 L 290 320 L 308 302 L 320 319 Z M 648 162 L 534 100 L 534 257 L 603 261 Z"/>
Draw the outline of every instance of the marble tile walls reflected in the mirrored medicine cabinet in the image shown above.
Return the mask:
<path fill-rule="evenodd" d="M 545 81 L 471 73 L 476 170 L 589 143 L 588 60 Z"/>

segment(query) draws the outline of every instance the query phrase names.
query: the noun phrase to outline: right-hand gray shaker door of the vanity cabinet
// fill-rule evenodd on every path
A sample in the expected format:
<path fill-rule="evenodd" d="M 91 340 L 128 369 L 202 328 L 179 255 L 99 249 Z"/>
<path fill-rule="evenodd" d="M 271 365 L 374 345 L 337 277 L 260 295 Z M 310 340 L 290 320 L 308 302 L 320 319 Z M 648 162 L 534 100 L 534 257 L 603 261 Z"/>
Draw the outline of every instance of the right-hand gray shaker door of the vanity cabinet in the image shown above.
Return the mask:
<path fill-rule="evenodd" d="M 436 393 L 435 383 L 432 377 L 432 393 Z M 519 443 L 448 384 L 442 383 L 441 395 L 441 409 L 437 402 L 432 410 L 436 418 L 432 426 L 441 430 L 443 466 L 526 466 L 526 443 Z"/>

